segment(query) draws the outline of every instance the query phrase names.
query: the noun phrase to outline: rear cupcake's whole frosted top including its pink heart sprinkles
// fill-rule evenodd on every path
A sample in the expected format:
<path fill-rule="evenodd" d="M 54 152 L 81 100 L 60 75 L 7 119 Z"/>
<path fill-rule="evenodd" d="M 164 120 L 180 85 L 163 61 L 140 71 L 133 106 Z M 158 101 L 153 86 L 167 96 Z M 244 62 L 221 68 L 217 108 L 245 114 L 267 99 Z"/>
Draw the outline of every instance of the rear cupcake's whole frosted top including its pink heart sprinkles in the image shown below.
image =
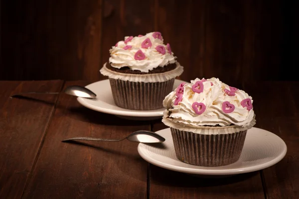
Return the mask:
<path fill-rule="evenodd" d="M 112 67 L 129 67 L 131 70 L 149 72 L 159 66 L 175 63 L 176 57 L 169 43 L 163 43 L 160 32 L 146 35 L 126 36 L 110 49 L 109 62 Z"/>

